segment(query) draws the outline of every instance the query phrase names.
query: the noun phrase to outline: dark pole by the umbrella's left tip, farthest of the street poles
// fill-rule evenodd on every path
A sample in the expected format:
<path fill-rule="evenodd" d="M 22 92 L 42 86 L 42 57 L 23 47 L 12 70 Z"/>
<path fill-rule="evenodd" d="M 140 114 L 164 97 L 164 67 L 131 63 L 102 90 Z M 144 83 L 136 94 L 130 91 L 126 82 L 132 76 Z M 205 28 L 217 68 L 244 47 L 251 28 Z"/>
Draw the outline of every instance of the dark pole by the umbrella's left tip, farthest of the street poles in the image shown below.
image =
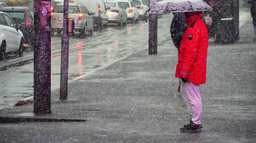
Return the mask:
<path fill-rule="evenodd" d="M 153 5 L 157 0 L 150 0 L 150 6 Z M 149 15 L 148 22 L 148 54 L 157 54 L 157 14 Z"/>

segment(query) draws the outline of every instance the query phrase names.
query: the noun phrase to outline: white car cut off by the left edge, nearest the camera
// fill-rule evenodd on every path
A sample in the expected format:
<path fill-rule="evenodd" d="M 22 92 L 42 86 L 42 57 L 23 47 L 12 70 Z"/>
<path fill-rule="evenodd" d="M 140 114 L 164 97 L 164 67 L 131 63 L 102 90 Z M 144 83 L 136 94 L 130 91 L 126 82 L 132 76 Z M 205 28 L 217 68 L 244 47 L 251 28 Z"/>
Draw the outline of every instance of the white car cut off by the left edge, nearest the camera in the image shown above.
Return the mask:
<path fill-rule="evenodd" d="M 15 22 L 4 12 L 0 12 L 0 60 L 5 59 L 9 52 L 16 52 L 20 57 L 23 55 L 24 37 L 20 28 L 22 25 Z"/>

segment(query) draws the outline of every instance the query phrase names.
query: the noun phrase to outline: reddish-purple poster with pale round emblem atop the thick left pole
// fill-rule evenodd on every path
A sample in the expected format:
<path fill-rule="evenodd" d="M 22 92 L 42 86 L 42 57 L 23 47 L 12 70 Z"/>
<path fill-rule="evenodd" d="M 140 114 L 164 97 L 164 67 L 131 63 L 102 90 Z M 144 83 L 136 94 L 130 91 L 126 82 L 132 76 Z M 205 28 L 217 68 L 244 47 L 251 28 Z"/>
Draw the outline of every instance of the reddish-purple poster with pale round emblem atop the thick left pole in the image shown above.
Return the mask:
<path fill-rule="evenodd" d="M 51 16 L 51 1 L 42 0 L 40 5 L 40 31 L 50 31 L 47 22 L 49 16 Z"/>

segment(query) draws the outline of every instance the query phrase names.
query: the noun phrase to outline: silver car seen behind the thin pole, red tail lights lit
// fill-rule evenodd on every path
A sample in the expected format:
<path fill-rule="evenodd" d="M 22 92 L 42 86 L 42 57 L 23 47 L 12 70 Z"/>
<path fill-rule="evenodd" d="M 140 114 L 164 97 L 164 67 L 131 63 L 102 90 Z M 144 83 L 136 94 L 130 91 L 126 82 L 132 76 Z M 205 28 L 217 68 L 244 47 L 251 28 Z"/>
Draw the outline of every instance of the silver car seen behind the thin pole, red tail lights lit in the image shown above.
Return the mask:
<path fill-rule="evenodd" d="M 52 31 L 60 35 L 63 30 L 63 3 L 56 4 L 52 12 Z M 69 3 L 68 17 L 75 18 L 75 31 L 84 38 L 88 32 L 93 34 L 93 13 L 89 13 L 83 4 Z"/>

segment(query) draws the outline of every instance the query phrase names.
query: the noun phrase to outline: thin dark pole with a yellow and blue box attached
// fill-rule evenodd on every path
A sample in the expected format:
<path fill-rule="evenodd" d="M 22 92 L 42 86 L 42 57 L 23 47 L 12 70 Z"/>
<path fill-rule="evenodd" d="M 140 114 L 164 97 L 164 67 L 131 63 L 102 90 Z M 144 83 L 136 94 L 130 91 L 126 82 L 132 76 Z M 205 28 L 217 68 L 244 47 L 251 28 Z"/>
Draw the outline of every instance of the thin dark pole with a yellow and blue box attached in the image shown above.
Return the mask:
<path fill-rule="evenodd" d="M 60 99 L 68 98 L 69 37 L 67 33 L 67 19 L 68 19 L 68 0 L 64 0 L 63 34 L 61 37 Z"/>

